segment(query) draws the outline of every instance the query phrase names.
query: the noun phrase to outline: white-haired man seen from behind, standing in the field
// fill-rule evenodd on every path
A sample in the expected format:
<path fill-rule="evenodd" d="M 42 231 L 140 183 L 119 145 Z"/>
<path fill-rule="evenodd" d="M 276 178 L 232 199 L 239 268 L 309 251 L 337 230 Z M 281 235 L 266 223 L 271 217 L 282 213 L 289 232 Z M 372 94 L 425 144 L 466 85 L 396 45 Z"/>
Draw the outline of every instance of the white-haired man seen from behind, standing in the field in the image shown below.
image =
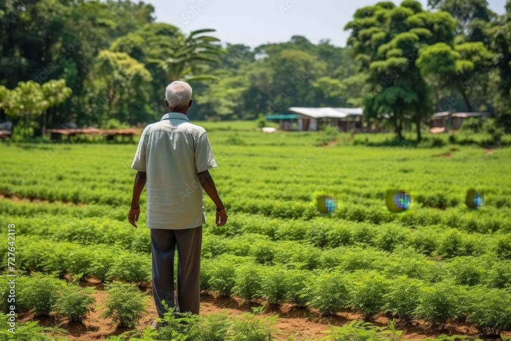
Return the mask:
<path fill-rule="evenodd" d="M 138 201 L 147 184 L 147 225 L 151 231 L 153 297 L 159 317 L 161 301 L 177 312 L 199 313 L 202 224 L 206 222 L 202 190 L 216 205 L 216 224 L 227 221 L 208 169 L 216 167 L 204 128 L 186 116 L 192 88 L 175 81 L 167 86 L 169 113 L 148 125 L 140 138 L 131 168 L 137 170 L 128 221 L 135 226 Z M 174 251 L 177 247 L 177 302 L 174 302 Z"/>

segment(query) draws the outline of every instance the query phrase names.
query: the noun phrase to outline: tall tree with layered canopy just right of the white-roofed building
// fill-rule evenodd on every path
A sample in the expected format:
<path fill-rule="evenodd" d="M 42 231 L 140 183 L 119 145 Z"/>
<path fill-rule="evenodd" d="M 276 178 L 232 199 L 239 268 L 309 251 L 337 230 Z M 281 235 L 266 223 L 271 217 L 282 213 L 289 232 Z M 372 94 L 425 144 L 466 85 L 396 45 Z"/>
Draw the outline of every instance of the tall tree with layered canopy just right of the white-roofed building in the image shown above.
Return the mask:
<path fill-rule="evenodd" d="M 362 72 L 367 73 L 364 96 L 369 119 L 390 120 L 402 138 L 406 120 L 413 119 L 417 140 L 430 112 L 429 87 L 416 66 L 419 50 L 439 41 L 452 42 L 456 22 L 447 12 L 429 12 L 419 2 L 405 0 L 359 9 L 345 29 Z"/>

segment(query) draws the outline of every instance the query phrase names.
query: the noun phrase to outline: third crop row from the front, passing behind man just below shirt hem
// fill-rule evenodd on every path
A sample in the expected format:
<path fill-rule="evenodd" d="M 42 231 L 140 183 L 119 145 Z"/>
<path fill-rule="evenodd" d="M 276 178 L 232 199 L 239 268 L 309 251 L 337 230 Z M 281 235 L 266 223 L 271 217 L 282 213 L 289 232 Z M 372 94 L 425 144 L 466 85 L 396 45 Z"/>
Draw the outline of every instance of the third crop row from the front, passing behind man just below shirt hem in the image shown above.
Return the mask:
<path fill-rule="evenodd" d="M 41 235 L 56 241 L 74 241 L 84 244 L 119 244 L 136 252 L 150 252 L 149 231 L 145 228 L 132 229 L 126 222 L 125 212 L 114 212 L 110 217 L 98 217 L 104 211 L 95 206 L 84 208 L 81 214 L 71 208 L 52 210 L 52 204 L 38 204 L 36 208 L 48 209 L 34 212 L 25 211 L 27 203 L 0 202 L 5 210 L 0 217 L 0 224 L 7 225 L 16 222 L 18 235 Z M 34 205 L 32 205 L 34 206 Z M 58 208 L 58 206 L 57 206 Z M 1 209 L 1 208 L 0 208 Z M 89 212 L 87 212 L 89 211 Z M 12 214 L 11 214 L 12 213 Z M 449 220 L 455 220 L 455 212 L 449 215 Z M 90 216 L 94 214 L 93 216 Z M 116 214 L 122 215 L 119 221 Z M 119 218 L 121 218 L 119 217 Z M 498 228 L 497 217 L 476 215 L 487 218 L 486 222 Z M 407 219 L 407 218 L 403 218 Z M 141 223 L 143 221 L 141 220 Z M 312 220 L 278 220 L 258 215 L 234 215 L 229 225 L 217 228 L 206 225 L 205 247 L 215 244 L 218 249 L 229 248 L 228 244 L 239 243 L 247 233 L 261 235 L 260 240 L 266 241 L 298 241 L 310 243 L 313 246 L 335 248 L 339 246 L 366 245 L 392 252 L 394 248 L 409 246 L 417 252 L 440 255 L 452 258 L 456 256 L 477 256 L 495 254 L 504 259 L 511 257 L 511 237 L 505 230 L 486 231 L 485 234 L 462 232 L 458 229 L 447 228 L 445 225 L 428 225 L 409 227 L 397 221 L 376 225 L 371 223 L 356 223 L 342 219 L 315 218 Z M 211 232 L 215 236 L 209 236 Z M 217 238 L 233 237 L 238 238 Z M 209 240 L 212 240 L 210 243 Z M 271 248 L 273 244 L 269 243 Z M 230 246 L 231 249 L 237 246 Z M 218 254 L 219 252 L 217 252 Z M 221 252 L 220 252 L 221 253 Z"/>

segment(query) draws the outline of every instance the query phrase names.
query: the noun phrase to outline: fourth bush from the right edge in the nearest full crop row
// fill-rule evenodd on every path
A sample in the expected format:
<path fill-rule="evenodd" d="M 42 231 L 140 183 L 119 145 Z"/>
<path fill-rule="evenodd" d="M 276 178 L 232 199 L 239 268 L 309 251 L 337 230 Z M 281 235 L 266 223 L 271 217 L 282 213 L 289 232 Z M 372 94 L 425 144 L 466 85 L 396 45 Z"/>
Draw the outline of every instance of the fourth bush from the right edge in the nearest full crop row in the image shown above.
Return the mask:
<path fill-rule="evenodd" d="M 377 272 L 357 271 L 351 277 L 349 306 L 367 319 L 384 310 L 389 280 Z"/>

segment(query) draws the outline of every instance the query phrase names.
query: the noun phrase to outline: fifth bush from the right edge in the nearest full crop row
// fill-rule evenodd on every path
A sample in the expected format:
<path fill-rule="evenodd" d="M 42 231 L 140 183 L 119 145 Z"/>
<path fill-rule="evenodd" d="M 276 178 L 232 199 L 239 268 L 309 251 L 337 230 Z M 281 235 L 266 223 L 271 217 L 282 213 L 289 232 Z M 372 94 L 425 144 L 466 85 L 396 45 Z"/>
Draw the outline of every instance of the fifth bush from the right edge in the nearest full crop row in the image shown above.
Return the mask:
<path fill-rule="evenodd" d="M 344 272 L 322 274 L 308 283 L 308 305 L 323 314 L 335 314 L 345 307 L 349 298 L 349 281 Z"/>

